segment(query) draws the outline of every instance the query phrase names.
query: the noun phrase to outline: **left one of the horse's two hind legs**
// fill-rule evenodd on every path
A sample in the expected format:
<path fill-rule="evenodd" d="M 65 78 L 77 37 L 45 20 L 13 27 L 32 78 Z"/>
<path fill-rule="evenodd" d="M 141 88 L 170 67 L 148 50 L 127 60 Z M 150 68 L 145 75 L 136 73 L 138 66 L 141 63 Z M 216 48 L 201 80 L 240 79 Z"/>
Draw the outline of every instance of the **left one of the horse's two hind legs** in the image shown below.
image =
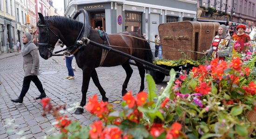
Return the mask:
<path fill-rule="evenodd" d="M 123 69 L 126 72 L 126 78 L 125 78 L 125 80 L 123 82 L 123 86 L 122 86 L 122 96 L 124 96 L 127 93 L 126 88 L 127 88 L 128 82 L 129 82 L 129 80 L 130 80 L 130 78 L 132 76 L 133 69 L 131 68 L 131 66 L 130 66 L 128 61 L 123 63 L 122 67 L 123 67 Z"/>

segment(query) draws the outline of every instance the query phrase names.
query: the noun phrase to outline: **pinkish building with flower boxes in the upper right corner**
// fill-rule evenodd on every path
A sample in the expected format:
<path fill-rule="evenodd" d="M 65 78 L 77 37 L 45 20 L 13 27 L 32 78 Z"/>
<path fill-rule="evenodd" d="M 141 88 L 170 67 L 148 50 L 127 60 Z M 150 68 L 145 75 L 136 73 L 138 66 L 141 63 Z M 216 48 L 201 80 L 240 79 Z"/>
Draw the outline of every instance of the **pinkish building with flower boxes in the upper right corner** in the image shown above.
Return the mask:
<path fill-rule="evenodd" d="M 197 20 L 256 24 L 256 0 L 198 0 Z M 216 10 L 209 14 L 209 7 Z M 203 9 L 205 8 L 205 9 Z"/>

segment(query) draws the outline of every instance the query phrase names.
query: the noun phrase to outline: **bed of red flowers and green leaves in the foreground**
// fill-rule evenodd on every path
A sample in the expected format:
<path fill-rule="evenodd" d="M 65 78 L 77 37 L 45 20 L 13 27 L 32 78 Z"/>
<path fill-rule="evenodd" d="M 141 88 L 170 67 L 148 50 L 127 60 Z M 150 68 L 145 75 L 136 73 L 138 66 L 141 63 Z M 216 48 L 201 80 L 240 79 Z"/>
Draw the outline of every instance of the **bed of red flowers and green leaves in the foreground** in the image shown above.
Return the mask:
<path fill-rule="evenodd" d="M 242 58 L 243 59 L 243 58 Z M 194 67 L 175 79 L 170 71 L 166 88 L 155 93 L 150 75 L 148 93 L 123 97 L 122 111 L 108 102 L 89 97 L 86 110 L 99 120 L 86 127 L 71 121 L 42 100 L 44 114 L 56 117 L 60 133 L 53 139 L 246 139 L 256 129 L 256 54 L 245 63 L 236 57 L 229 62 L 212 60 L 209 66 Z M 254 133 L 253 133 L 254 134 Z"/>

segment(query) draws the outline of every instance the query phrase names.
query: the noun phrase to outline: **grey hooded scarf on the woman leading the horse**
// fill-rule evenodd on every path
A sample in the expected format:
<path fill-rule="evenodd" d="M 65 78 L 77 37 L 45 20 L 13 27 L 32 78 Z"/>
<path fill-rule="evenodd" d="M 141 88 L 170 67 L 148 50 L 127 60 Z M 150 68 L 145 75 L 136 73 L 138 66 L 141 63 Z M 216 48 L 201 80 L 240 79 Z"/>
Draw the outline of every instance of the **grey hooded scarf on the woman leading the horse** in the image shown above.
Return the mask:
<path fill-rule="evenodd" d="M 26 56 L 28 53 L 30 53 L 30 51 L 37 49 L 35 44 L 33 45 L 31 34 L 29 32 L 25 32 L 23 35 L 26 35 L 28 42 L 27 42 L 27 44 L 23 43 L 24 45 L 21 48 L 21 56 L 22 57 Z"/>

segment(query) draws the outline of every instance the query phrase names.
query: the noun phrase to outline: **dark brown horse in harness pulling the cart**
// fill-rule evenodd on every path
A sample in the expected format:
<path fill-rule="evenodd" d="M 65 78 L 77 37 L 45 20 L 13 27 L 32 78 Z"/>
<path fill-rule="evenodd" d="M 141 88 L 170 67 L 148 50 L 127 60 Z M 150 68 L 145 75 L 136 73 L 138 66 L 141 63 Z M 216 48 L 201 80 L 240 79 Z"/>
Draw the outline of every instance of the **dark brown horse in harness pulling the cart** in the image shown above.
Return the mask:
<path fill-rule="evenodd" d="M 75 47 L 75 44 L 84 32 L 87 31 L 88 39 L 99 44 L 104 44 L 104 40 L 100 37 L 99 32 L 95 29 L 92 29 L 88 24 L 81 23 L 74 19 L 70 19 L 62 16 L 43 16 L 39 14 L 40 20 L 37 22 L 39 30 L 39 53 L 40 57 L 48 59 L 53 56 L 53 50 L 56 42 L 61 39 L 63 44 L 65 44 L 69 49 Z M 88 21 L 86 21 L 88 22 Z M 81 33 L 80 33 L 81 32 Z M 124 34 L 124 35 L 122 35 Z M 129 37 L 129 36 L 131 37 Z M 154 57 L 152 51 L 150 50 L 149 44 L 143 40 L 138 39 L 142 36 L 138 35 L 136 32 L 121 32 L 119 34 L 108 34 L 108 42 L 111 47 L 115 47 L 116 50 L 122 51 L 124 53 L 130 54 L 131 56 L 140 58 L 149 63 L 152 63 Z M 77 51 L 78 50 L 78 51 Z M 86 94 L 88 91 L 88 85 L 90 78 L 99 89 L 102 101 L 108 101 L 106 97 L 106 92 L 101 87 L 101 84 L 98 79 L 97 72 L 95 68 L 102 67 L 112 67 L 121 65 L 126 72 L 126 78 L 122 84 L 122 96 L 127 93 L 127 85 L 129 79 L 133 73 L 133 69 L 129 64 L 129 58 L 124 57 L 115 52 L 109 51 L 107 54 L 103 55 L 103 49 L 101 47 L 96 47 L 92 44 L 87 44 L 76 49 L 73 52 L 77 66 L 82 69 L 83 79 L 82 79 L 82 99 L 80 106 L 84 107 L 86 104 Z M 102 58 L 104 61 L 102 62 Z M 135 61 L 136 66 L 138 67 L 139 74 L 141 77 L 141 86 L 139 92 L 144 90 L 144 78 L 145 78 L 145 69 L 142 63 Z M 74 114 L 82 114 L 84 109 L 78 107 Z"/>

